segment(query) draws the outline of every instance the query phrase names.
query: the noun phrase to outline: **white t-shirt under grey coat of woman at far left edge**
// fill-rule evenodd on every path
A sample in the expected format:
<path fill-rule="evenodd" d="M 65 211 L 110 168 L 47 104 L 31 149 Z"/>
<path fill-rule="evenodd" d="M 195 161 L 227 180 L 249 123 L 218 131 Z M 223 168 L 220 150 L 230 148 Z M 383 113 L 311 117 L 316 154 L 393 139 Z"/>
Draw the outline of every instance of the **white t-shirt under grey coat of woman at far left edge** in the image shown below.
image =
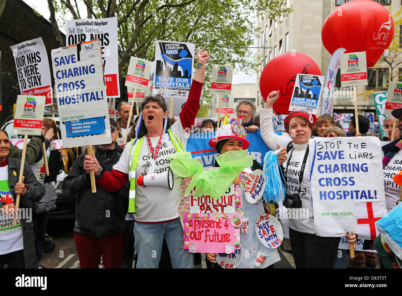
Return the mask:
<path fill-rule="evenodd" d="M 10 188 L 8 187 L 8 166 L 0 167 L 0 196 L 1 201 L 14 205 Z M 24 248 L 21 219 L 13 226 L 14 219 L 0 213 L 0 255 L 12 253 Z"/>

